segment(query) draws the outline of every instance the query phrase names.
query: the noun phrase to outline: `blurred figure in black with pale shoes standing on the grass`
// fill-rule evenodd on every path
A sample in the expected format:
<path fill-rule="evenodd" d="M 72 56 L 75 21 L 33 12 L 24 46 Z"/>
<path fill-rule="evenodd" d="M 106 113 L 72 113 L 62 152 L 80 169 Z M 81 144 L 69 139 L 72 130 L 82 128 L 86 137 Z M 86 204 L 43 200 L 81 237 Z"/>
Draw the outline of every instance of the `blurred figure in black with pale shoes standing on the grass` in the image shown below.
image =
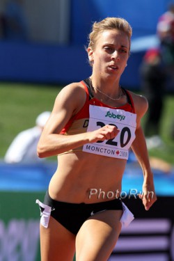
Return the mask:
<path fill-rule="evenodd" d="M 159 49 L 149 49 L 145 53 L 140 74 L 141 89 L 149 103 L 144 133 L 148 148 L 154 148 L 162 144 L 159 130 L 166 83 L 166 74 Z"/>

